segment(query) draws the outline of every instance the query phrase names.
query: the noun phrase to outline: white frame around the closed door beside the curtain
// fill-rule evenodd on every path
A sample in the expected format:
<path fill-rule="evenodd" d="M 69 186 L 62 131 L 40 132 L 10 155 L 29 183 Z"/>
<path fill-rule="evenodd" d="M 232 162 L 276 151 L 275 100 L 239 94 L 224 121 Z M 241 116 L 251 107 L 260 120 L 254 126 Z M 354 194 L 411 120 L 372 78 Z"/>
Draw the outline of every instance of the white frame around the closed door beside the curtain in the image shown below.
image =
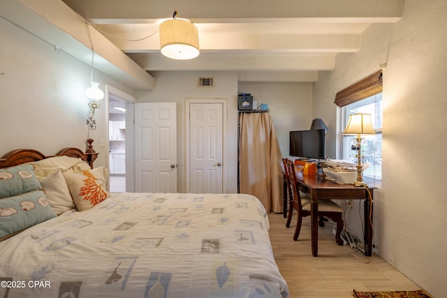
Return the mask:
<path fill-rule="evenodd" d="M 227 98 L 185 98 L 185 114 L 184 114 L 184 119 L 185 119 L 185 188 L 186 189 L 186 193 L 189 193 L 189 182 L 190 182 L 190 175 L 189 175 L 189 156 L 191 154 L 190 150 L 189 150 L 189 113 L 190 113 L 190 107 L 189 105 L 191 103 L 221 103 L 222 104 L 222 108 L 223 108 L 223 117 L 222 117 L 222 121 L 223 121 L 223 142 L 222 142 L 222 193 L 226 193 L 227 192 L 227 147 L 228 147 L 228 142 L 227 142 L 227 121 L 228 121 L 228 109 L 227 109 L 227 102 L 228 99 Z"/>

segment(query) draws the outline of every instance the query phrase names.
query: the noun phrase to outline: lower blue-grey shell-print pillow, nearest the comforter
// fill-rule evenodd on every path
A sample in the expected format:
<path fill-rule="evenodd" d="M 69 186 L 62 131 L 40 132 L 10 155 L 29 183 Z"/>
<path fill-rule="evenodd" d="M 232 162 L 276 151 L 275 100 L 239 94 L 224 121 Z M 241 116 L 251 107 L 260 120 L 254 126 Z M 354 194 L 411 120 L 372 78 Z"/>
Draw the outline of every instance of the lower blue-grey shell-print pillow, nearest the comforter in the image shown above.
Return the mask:
<path fill-rule="evenodd" d="M 31 191 L 1 199 L 0 241 L 54 217 L 56 214 L 48 204 L 43 191 Z"/>

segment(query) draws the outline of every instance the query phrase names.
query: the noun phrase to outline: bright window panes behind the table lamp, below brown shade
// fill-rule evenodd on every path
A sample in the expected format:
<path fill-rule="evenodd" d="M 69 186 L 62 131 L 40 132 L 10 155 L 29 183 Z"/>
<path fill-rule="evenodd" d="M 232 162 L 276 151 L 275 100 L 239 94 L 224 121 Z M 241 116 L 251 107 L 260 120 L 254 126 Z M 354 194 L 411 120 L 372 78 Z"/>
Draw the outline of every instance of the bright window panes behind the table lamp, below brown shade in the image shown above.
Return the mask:
<path fill-rule="evenodd" d="M 363 177 L 380 181 L 382 179 L 382 94 L 369 96 L 342 108 L 344 116 L 343 130 L 347 125 L 350 114 L 371 114 L 372 126 L 376 131 L 376 135 L 362 136 L 364 139 L 362 140 L 361 154 L 365 157 L 362 158 L 362 161 L 369 163 L 369 167 L 363 172 Z M 352 144 L 356 144 L 354 136 L 344 135 L 343 158 L 357 164 L 356 150 L 351 150 Z"/>

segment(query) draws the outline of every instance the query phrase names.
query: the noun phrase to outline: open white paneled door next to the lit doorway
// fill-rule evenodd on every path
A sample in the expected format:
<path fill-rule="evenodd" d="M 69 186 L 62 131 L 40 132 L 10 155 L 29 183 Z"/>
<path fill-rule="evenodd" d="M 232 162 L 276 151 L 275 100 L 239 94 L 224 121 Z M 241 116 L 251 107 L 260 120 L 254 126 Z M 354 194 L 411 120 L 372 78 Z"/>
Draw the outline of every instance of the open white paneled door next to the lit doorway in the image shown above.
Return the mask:
<path fill-rule="evenodd" d="M 135 103 L 135 192 L 177 192 L 175 103 Z"/>

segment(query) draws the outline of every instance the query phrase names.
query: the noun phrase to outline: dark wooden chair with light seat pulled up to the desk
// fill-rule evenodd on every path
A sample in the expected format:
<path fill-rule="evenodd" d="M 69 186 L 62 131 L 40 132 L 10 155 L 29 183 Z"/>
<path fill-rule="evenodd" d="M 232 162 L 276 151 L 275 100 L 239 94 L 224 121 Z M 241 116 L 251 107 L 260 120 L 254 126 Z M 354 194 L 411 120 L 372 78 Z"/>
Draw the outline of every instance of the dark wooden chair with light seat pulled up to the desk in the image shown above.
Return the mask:
<path fill-rule="evenodd" d="M 302 198 L 302 195 L 300 195 L 300 190 L 298 189 L 298 182 L 295 174 L 295 166 L 293 165 L 293 162 L 288 160 L 288 158 L 283 158 L 283 164 L 286 179 L 288 179 L 289 195 L 289 211 L 286 227 L 290 227 L 293 209 L 295 209 L 298 213 L 298 218 L 295 227 L 295 234 L 293 234 L 293 240 L 296 241 L 298 240 L 298 236 L 300 235 L 302 218 L 310 216 L 311 201 L 309 197 Z M 322 218 L 323 216 L 325 216 L 331 218 L 333 221 L 335 221 L 335 223 L 337 223 L 335 241 L 338 245 L 343 245 L 342 237 L 340 237 L 344 226 L 342 211 L 342 207 L 340 207 L 335 202 L 332 202 L 332 200 L 318 201 L 318 218 Z"/>

